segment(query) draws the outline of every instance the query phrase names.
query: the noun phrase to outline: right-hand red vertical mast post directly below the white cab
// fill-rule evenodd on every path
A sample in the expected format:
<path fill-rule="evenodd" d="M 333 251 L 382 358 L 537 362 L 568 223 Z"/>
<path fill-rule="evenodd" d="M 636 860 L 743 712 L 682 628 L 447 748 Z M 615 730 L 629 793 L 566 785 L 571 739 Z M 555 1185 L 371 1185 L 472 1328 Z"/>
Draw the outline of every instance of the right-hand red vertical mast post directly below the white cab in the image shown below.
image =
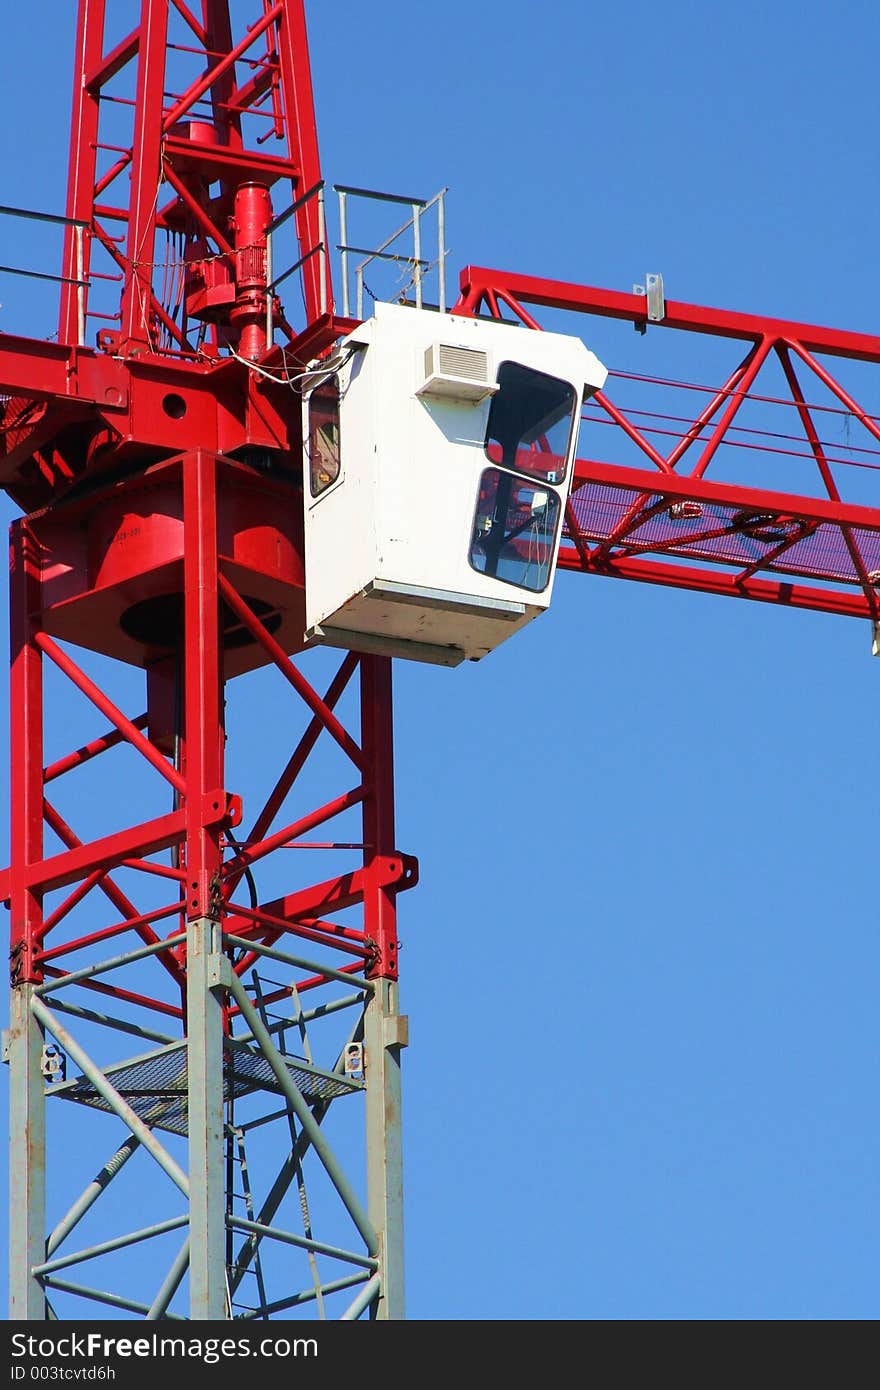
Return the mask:
<path fill-rule="evenodd" d="M 360 721 L 364 752 L 364 867 L 395 852 L 395 764 L 391 657 L 360 659 Z M 398 979 L 398 909 L 395 888 L 370 884 L 364 892 L 364 931 L 375 941 L 378 960 L 370 972 Z"/>

